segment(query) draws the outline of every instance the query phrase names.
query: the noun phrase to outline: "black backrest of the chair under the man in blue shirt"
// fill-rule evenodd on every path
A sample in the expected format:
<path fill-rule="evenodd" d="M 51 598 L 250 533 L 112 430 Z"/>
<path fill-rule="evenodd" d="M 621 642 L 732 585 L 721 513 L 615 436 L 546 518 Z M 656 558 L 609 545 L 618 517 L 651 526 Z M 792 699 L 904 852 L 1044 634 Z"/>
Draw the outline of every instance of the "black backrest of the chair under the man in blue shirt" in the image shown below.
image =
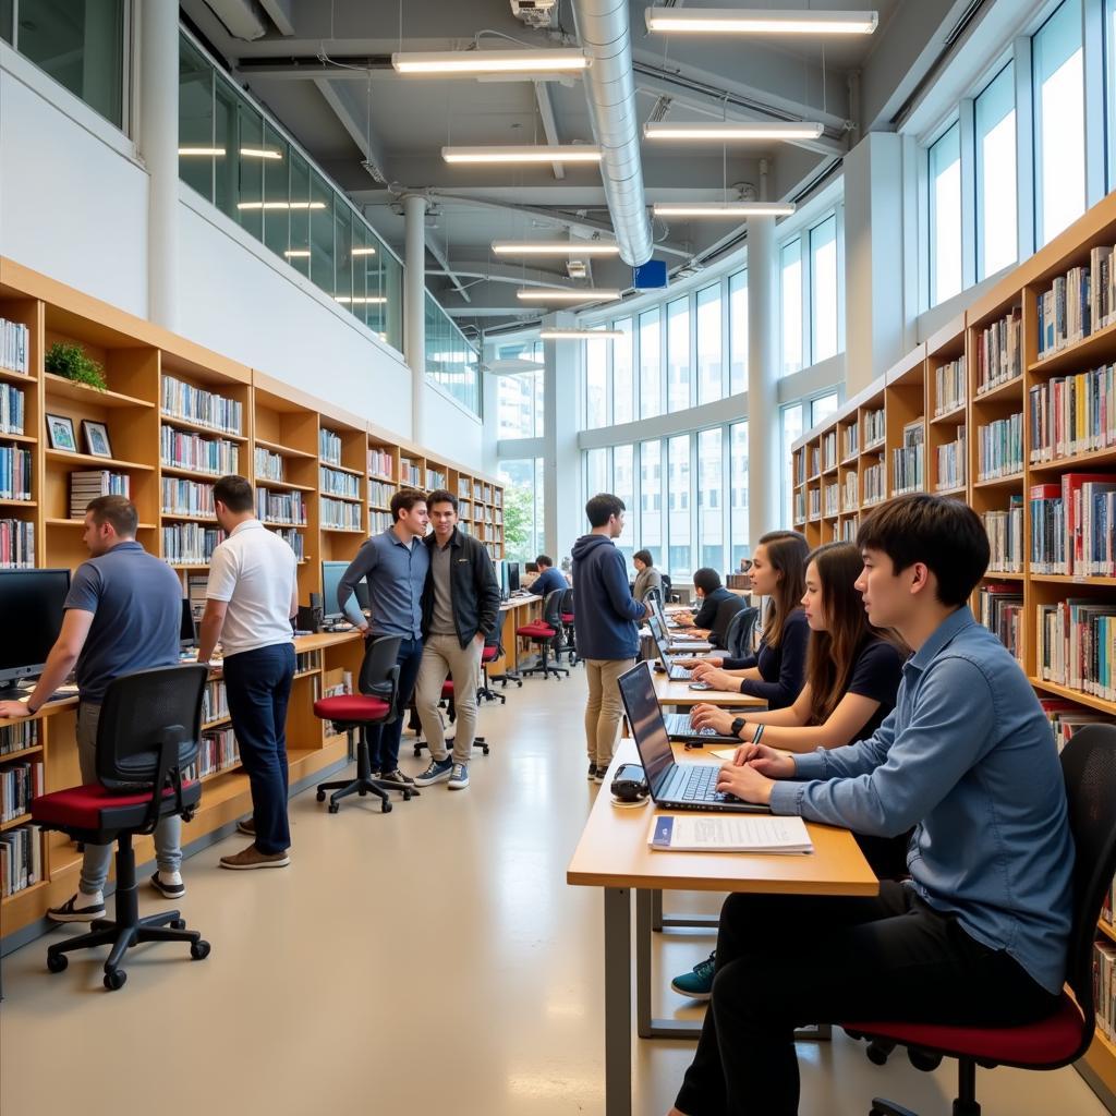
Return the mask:
<path fill-rule="evenodd" d="M 1093 1039 L 1093 942 L 1105 894 L 1116 875 L 1116 724 L 1087 724 L 1062 749 L 1069 829 L 1074 836 L 1074 926 L 1066 980 Z"/>

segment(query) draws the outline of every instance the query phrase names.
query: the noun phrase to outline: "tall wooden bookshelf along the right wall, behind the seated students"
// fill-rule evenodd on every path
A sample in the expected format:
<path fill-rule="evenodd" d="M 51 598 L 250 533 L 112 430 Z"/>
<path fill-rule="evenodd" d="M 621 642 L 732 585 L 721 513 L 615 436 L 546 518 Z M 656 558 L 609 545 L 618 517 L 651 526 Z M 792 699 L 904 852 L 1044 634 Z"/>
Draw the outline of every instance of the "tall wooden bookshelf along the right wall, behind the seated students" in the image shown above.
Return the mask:
<path fill-rule="evenodd" d="M 1075 599 L 1095 600 L 1105 605 L 1116 603 L 1116 577 L 1083 574 L 1045 574 L 1031 568 L 1031 540 L 1035 525 L 1029 502 L 1035 484 L 1059 484 L 1062 474 L 1071 471 L 1110 474 L 1116 480 L 1116 444 L 1065 453 L 1054 460 L 1032 461 L 1032 423 L 1037 415 L 1033 393 L 1043 388 L 1054 377 L 1079 375 L 1098 366 L 1116 363 L 1116 318 L 1093 334 L 1066 345 L 1045 359 L 1039 357 L 1039 298 L 1050 290 L 1055 279 L 1070 268 L 1088 267 L 1095 247 L 1116 244 L 1116 193 L 1109 194 L 1089 210 L 1079 221 L 1060 233 L 1050 244 L 1027 260 L 994 288 L 977 300 L 962 316 L 930 337 L 924 345 L 907 355 L 896 366 L 879 377 L 856 398 L 849 400 L 838 413 L 802 435 L 791 448 L 791 469 L 795 493 L 795 527 L 804 531 L 811 546 L 828 541 L 826 518 L 817 520 L 809 514 L 809 491 L 819 483 L 811 469 L 815 452 L 824 445 L 826 436 L 836 431 L 839 439 L 838 471 L 847 475 L 853 470 L 853 458 L 846 452 L 845 431 L 858 427 L 859 450 L 856 464 L 859 470 L 859 513 L 870 510 L 865 470 L 884 462 L 887 473 L 887 494 L 894 494 L 893 460 L 891 451 L 899 442 L 899 432 L 916 421 L 925 423 L 926 483 L 925 490 L 965 500 L 984 518 L 990 538 L 997 529 L 1009 529 L 1014 509 L 1017 528 L 1021 520 L 1021 547 L 1017 556 L 1018 568 L 1002 565 L 995 568 L 997 556 L 983 584 L 1007 583 L 1018 585 L 1023 598 L 1021 615 L 1021 647 L 1018 650 L 1020 666 L 1037 694 L 1043 699 L 1061 699 L 1116 720 L 1116 702 L 1098 698 L 1081 690 L 1041 677 L 1039 663 L 1038 609 Z M 997 329 L 997 349 L 985 344 L 987 330 Z M 1011 323 L 1018 323 L 1018 345 L 1004 338 L 1012 335 Z M 1000 359 L 1000 353 L 1003 358 Z M 994 352 L 994 364 L 991 354 Z M 963 398 L 951 398 L 942 405 L 939 398 L 939 371 L 952 362 L 964 359 Z M 981 365 L 984 372 L 982 376 Z M 983 389 L 982 389 L 983 388 Z M 884 410 L 886 442 L 874 446 L 865 433 L 867 412 Z M 1020 415 L 1019 436 L 1021 461 L 1013 461 L 1016 445 L 1010 436 L 999 443 L 999 458 L 981 452 L 981 427 L 1010 435 L 1010 421 Z M 997 423 L 1007 426 L 993 427 Z M 964 431 L 965 475 L 960 483 L 943 483 L 939 473 L 939 451 L 955 444 Z M 1007 448 L 1007 452 L 1001 452 Z M 989 449 L 987 446 L 987 449 Z M 885 456 L 886 454 L 886 456 Z M 981 466 L 984 471 L 981 471 Z M 991 468 L 990 468 L 991 465 Z M 852 510 L 843 504 L 837 522 L 840 529 Z M 999 517 L 999 518 L 997 518 Z M 1008 556 L 1000 556 L 1001 559 Z M 980 587 L 973 595 L 974 612 L 979 604 Z M 977 612 L 978 619 L 980 618 Z M 1112 926 L 1100 923 L 1098 934 L 1116 939 Z M 1116 1093 L 1116 1046 L 1098 1030 L 1096 1040 L 1086 1054 L 1083 1069 L 1090 1084 L 1099 1081 Z M 1106 1101 L 1109 1098 L 1104 1098 Z"/>

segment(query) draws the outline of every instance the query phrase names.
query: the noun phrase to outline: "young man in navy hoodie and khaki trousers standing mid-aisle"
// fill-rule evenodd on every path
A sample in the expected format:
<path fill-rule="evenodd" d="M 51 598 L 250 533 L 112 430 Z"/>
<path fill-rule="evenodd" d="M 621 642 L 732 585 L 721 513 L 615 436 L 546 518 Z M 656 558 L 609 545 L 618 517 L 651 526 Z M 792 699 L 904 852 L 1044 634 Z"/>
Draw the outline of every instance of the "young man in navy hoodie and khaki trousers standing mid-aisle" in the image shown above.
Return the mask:
<path fill-rule="evenodd" d="M 574 543 L 574 634 L 585 662 L 589 698 L 585 705 L 585 743 L 589 778 L 605 781 L 620 723 L 619 676 L 635 665 L 639 650 L 636 620 L 651 609 L 628 588 L 624 556 L 613 539 L 624 531 L 624 501 L 608 492 L 585 506 L 589 533 Z"/>

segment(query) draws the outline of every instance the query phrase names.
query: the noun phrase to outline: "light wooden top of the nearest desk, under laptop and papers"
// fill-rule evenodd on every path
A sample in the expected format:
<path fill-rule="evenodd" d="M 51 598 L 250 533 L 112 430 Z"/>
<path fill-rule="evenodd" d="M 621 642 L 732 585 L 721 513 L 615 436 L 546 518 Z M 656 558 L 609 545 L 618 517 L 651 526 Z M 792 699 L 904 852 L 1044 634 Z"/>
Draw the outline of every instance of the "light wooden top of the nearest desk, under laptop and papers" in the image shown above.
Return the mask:
<path fill-rule="evenodd" d="M 691 752 L 674 745 L 675 757 Z M 608 793 L 614 770 L 638 762 L 635 744 L 622 740 L 581 839 L 566 869 L 566 883 L 589 887 L 639 887 L 684 892 L 759 892 L 792 895 L 876 895 L 879 883 L 846 829 L 806 824 L 814 841 L 807 855 L 759 853 L 663 853 L 647 845 L 654 804 L 614 807 Z M 706 760 L 706 762 L 720 762 Z M 668 811 L 667 811 L 668 812 Z"/>

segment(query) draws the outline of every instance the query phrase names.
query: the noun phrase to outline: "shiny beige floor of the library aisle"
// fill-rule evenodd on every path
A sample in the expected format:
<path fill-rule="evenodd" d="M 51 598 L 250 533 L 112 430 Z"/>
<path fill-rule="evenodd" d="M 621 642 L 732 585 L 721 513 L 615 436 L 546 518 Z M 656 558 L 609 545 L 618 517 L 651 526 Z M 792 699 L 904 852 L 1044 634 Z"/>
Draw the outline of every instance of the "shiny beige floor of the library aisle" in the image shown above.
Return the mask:
<path fill-rule="evenodd" d="M 596 792 L 584 692 L 577 671 L 485 708 L 494 747 L 464 792 L 434 787 L 386 816 L 347 802 L 335 817 L 302 795 L 287 870 L 219 870 L 238 838 L 189 860 L 182 908 L 213 943 L 208 961 L 145 946 L 107 993 L 103 959 L 51 977 L 41 940 L 4 959 L 0 1112 L 602 1113 L 602 903 L 565 883 Z M 711 908 L 672 905 L 686 901 Z M 661 968 L 710 947 L 672 936 Z M 683 1007 L 664 980 L 658 1013 Z M 691 1049 L 636 1045 L 639 1116 L 667 1109 Z M 903 1057 L 878 1069 L 841 1036 L 799 1055 L 804 1114 L 864 1116 L 873 1094 L 949 1112 L 947 1070 Z M 1071 1069 L 981 1071 L 979 1087 L 988 1116 L 1104 1113 Z"/>

